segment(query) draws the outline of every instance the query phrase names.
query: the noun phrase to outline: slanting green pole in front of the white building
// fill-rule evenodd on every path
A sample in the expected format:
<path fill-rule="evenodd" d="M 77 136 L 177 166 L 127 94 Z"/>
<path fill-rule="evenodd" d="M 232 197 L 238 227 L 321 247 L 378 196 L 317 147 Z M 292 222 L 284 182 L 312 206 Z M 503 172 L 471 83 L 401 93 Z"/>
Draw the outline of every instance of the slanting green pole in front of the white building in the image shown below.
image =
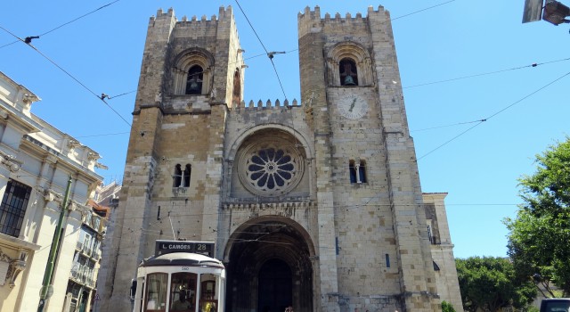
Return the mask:
<path fill-rule="evenodd" d="M 65 209 L 68 207 L 69 191 L 71 190 L 71 176 L 69 176 L 68 187 L 65 190 L 65 196 L 63 196 L 63 202 L 61 203 L 60 218 L 57 221 L 57 226 L 55 226 L 55 234 L 53 235 L 52 249 L 50 250 L 50 256 L 47 260 L 47 266 L 45 267 L 44 283 L 39 291 L 39 304 L 37 305 L 37 312 L 43 312 L 45 306 L 45 300 L 53 294 L 53 267 L 55 264 L 55 253 L 57 247 L 60 245 L 61 228 L 63 227 L 63 215 L 65 214 Z"/>

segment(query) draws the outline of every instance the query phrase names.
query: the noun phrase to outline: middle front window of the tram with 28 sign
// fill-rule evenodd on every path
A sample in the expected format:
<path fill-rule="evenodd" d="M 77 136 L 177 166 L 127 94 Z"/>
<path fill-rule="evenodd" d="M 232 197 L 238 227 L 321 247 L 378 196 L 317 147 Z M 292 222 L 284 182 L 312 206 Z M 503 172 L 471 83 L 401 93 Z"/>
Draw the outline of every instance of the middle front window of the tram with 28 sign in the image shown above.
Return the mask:
<path fill-rule="evenodd" d="M 196 280 L 193 273 L 175 273 L 170 283 L 170 311 L 194 311 L 196 307 Z"/>

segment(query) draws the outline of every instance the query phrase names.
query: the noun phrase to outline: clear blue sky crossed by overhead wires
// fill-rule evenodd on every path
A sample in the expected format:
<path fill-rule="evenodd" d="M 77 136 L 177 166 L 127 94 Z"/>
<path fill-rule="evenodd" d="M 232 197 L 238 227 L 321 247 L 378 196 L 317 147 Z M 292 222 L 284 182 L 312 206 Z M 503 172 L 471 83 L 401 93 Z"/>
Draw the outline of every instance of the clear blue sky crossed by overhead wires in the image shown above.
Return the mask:
<path fill-rule="evenodd" d="M 36 36 L 113 1 L 8 1 L 0 26 L 19 37 Z M 517 178 L 533 173 L 534 155 L 568 134 L 570 76 L 546 85 L 570 71 L 569 26 L 545 21 L 522 24 L 524 0 L 446 2 L 241 0 L 240 4 L 269 51 L 290 51 L 274 58 L 289 100 L 299 99 L 297 12 L 306 5 L 319 4 L 323 15 L 351 12 L 354 16 L 365 15 L 370 4 L 375 8 L 382 4 L 393 19 L 402 17 L 393 21 L 393 29 L 422 189 L 449 193 L 447 214 L 456 257 L 503 257 L 508 233 L 501 220 L 516 213 Z M 419 12 L 437 4 L 443 5 Z M 136 90 L 149 17 L 159 8 L 173 7 L 179 20 L 183 15 L 209 19 L 220 5 L 232 5 L 245 57 L 250 58 L 245 99 L 282 101 L 271 63 L 265 56 L 254 57 L 264 53 L 263 47 L 234 1 L 121 0 L 32 44 L 94 94 L 112 97 Z M 416 13 L 405 16 L 412 12 Z M 14 37 L 0 29 L 0 46 L 12 41 Z M 532 63 L 544 64 L 528 67 Z M 121 181 L 130 129 L 123 119 L 22 43 L 0 48 L 0 70 L 42 98 L 33 105 L 33 113 L 102 155 L 102 163 L 109 166 L 100 171 L 105 182 Z M 496 71 L 501 72 L 485 74 Z M 455 79 L 478 74 L 485 75 Z M 452 81 L 418 86 L 447 79 Z M 134 93 L 109 103 L 131 122 Z M 476 123 L 456 124 L 490 116 L 460 135 Z M 455 126 L 441 127 L 446 125 Z M 425 130 L 432 127 L 436 128 Z M 456 135 L 460 136 L 432 152 Z"/>

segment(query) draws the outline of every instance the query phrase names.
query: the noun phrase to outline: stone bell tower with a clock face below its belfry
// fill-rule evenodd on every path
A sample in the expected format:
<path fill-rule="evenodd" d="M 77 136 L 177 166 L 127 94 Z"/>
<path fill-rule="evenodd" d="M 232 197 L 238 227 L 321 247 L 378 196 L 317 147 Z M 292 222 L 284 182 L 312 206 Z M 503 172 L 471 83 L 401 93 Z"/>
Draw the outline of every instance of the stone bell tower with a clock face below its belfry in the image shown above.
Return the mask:
<path fill-rule="evenodd" d="M 439 310 L 389 13 L 322 18 L 307 7 L 298 36 L 315 140 L 320 310 Z"/>

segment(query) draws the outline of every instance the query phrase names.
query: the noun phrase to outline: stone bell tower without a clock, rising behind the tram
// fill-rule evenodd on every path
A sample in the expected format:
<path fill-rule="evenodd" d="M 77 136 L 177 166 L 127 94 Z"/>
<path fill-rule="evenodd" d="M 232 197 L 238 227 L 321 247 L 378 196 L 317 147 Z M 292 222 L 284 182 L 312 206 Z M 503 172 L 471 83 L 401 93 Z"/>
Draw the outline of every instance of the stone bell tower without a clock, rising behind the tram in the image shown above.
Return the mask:
<path fill-rule="evenodd" d="M 243 97 L 242 52 L 232 7 L 210 18 L 178 20 L 173 9 L 151 17 L 99 280 L 102 311 L 131 309 L 129 283 L 155 240 L 216 239 L 212 208 L 220 206 L 226 114 Z"/>

